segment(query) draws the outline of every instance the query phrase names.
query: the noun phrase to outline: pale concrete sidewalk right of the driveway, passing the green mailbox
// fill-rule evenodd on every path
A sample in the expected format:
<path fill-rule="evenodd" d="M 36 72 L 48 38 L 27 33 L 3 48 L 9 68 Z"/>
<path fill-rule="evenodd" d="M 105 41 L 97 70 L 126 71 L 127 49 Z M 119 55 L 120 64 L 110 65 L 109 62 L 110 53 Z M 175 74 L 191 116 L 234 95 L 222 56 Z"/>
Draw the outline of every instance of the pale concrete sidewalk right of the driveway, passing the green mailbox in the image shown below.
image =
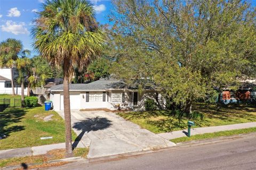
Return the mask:
<path fill-rule="evenodd" d="M 254 127 L 256 127 L 256 122 L 230 124 L 230 125 L 222 125 L 222 126 L 211 126 L 211 127 L 205 127 L 205 128 L 191 128 L 191 135 L 213 133 L 213 132 L 220 132 L 220 131 L 229 131 L 229 130 L 236 130 L 236 129 L 254 128 Z M 168 133 L 159 133 L 158 135 L 164 139 L 171 140 L 175 138 L 187 137 L 187 132 L 188 130 L 185 129 L 185 130 L 173 131 Z"/>

